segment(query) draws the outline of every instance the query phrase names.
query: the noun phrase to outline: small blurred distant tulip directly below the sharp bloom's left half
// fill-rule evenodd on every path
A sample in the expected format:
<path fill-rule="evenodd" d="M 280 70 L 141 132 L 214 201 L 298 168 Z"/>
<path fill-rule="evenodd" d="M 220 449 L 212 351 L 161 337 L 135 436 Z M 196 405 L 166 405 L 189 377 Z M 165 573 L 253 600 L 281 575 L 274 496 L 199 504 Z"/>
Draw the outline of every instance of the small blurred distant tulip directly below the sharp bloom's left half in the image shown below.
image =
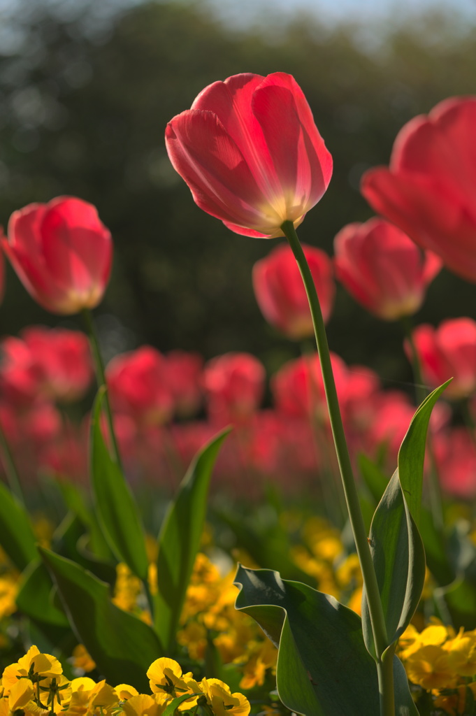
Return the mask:
<path fill-rule="evenodd" d="M 258 410 L 266 374 L 249 353 L 225 353 L 211 359 L 203 372 L 208 414 L 213 422 L 246 422 Z"/>

